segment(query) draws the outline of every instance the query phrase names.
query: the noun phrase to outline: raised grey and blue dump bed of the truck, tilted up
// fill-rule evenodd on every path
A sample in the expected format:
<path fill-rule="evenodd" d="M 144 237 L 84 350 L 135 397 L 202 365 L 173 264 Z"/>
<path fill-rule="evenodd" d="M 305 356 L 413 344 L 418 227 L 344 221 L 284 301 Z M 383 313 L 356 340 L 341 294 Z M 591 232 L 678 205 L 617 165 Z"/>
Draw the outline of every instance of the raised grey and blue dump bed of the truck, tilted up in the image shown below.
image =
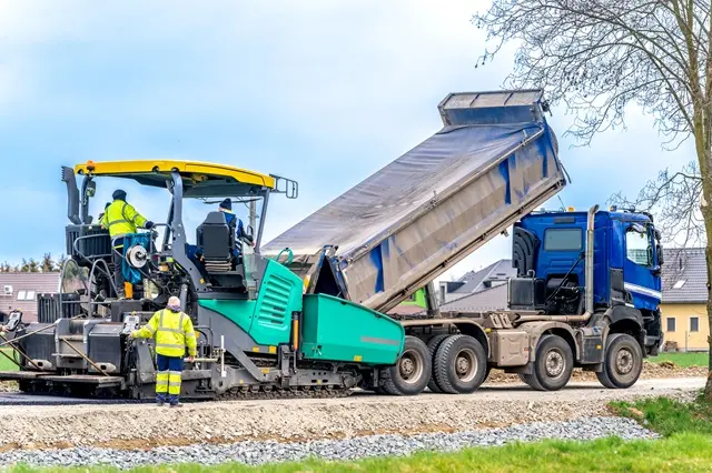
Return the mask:
<path fill-rule="evenodd" d="M 337 282 L 317 292 L 385 312 L 565 185 L 542 91 L 453 93 L 438 110 L 442 130 L 263 253 L 289 248 L 305 276 L 338 246 L 325 265 Z"/>

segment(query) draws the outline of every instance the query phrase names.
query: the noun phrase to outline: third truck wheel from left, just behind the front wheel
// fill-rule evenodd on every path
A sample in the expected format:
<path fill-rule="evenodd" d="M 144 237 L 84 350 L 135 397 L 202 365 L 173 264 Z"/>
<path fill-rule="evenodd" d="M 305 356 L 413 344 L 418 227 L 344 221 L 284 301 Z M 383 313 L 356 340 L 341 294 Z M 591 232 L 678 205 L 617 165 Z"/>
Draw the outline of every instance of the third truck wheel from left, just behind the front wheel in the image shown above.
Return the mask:
<path fill-rule="evenodd" d="M 561 390 L 571 380 L 573 371 L 574 354 L 568 343 L 557 335 L 542 336 L 536 346 L 534 373 L 532 374 L 538 381 L 541 391 Z"/>

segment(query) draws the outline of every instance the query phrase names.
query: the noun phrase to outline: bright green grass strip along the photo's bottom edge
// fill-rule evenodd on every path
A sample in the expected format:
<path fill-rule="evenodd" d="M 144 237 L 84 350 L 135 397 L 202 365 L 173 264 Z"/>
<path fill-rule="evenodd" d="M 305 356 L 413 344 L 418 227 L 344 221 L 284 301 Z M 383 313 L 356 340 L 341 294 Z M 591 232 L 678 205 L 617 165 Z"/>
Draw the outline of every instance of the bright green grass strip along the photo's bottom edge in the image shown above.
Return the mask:
<path fill-rule="evenodd" d="M 310 460 L 249 467 L 236 463 L 219 466 L 198 464 L 146 466 L 137 473 L 434 473 L 434 472 L 709 472 L 712 470 L 712 437 L 695 433 L 646 442 L 602 439 L 594 442 L 547 441 L 491 449 L 467 449 L 457 453 L 421 452 L 407 457 L 369 459 L 357 462 Z M 0 470 L 1 471 L 1 470 Z M 17 466 L 12 473 L 118 472 L 106 467 L 31 469 Z"/>

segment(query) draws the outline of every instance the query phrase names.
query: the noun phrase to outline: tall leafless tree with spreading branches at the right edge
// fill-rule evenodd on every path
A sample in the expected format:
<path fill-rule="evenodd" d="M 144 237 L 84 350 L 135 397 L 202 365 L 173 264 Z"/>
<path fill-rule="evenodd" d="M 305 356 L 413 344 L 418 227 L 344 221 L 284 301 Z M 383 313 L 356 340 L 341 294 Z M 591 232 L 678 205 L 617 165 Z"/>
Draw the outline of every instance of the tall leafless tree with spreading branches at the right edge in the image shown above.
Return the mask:
<path fill-rule="evenodd" d="M 675 163 L 673 169 L 682 174 L 662 175 L 643 190 L 643 198 L 654 197 L 650 191 L 659 188 L 664 194 L 672 178 L 678 183 L 684 180 L 690 189 L 696 185 L 703 201 L 712 203 L 711 10 L 711 3 L 701 0 L 494 0 L 473 23 L 494 40 L 482 63 L 504 43 L 516 41 L 508 84 L 545 87 L 552 104 L 564 103 L 575 113 L 570 133 L 582 143 L 599 132 L 625 127 L 630 105 L 654 117 L 664 147 L 693 139 L 698 175 L 682 179 L 685 163 Z M 665 199 L 657 204 L 664 207 Z M 689 220 L 695 219 L 696 208 L 690 208 Z M 712 207 L 700 208 L 699 223 L 712 281 Z M 712 346 L 712 338 L 708 341 Z M 712 400 L 712 350 L 705 396 Z"/>

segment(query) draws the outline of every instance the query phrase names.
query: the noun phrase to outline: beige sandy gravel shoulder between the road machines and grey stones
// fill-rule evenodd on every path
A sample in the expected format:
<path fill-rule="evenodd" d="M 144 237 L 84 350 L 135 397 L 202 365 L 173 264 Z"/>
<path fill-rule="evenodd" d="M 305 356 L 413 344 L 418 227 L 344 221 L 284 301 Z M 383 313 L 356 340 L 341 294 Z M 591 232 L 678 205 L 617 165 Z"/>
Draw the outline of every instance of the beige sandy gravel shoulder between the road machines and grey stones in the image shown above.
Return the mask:
<path fill-rule="evenodd" d="M 560 392 L 534 392 L 524 385 L 503 384 L 486 385 L 468 395 L 356 393 L 336 400 L 207 402 L 181 410 L 152 404 L 2 406 L 0 452 L 456 433 L 610 416 L 606 404 L 611 400 L 651 395 L 689 400 L 703 385 L 703 378 L 641 380 L 629 390 L 572 383 Z"/>

